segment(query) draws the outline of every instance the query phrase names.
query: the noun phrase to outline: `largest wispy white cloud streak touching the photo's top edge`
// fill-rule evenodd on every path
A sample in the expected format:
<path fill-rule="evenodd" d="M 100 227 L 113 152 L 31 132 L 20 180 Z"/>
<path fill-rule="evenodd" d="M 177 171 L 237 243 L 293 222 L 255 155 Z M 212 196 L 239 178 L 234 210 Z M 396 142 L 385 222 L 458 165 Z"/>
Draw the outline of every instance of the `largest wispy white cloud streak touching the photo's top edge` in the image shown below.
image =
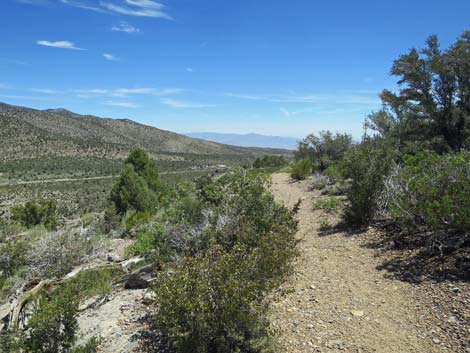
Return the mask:
<path fill-rule="evenodd" d="M 109 2 L 100 2 L 100 6 L 108 11 L 119 13 L 121 15 L 138 17 L 155 17 L 172 20 L 173 18 L 165 11 L 165 5 L 151 0 L 125 0 L 125 4 L 116 5 Z"/>

